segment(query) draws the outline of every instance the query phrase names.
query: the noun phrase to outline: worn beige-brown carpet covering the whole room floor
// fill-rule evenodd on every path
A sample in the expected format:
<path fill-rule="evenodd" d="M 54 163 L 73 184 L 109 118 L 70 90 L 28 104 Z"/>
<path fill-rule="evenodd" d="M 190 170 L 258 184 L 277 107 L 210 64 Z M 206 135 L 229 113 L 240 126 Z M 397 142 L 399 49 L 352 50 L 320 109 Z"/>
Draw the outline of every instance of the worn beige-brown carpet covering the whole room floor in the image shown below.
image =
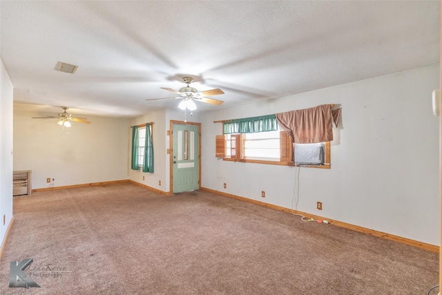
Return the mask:
<path fill-rule="evenodd" d="M 206 191 L 82 187 L 14 211 L 0 294 L 424 295 L 439 276 L 436 253 Z M 40 287 L 8 287 L 26 258 Z"/>

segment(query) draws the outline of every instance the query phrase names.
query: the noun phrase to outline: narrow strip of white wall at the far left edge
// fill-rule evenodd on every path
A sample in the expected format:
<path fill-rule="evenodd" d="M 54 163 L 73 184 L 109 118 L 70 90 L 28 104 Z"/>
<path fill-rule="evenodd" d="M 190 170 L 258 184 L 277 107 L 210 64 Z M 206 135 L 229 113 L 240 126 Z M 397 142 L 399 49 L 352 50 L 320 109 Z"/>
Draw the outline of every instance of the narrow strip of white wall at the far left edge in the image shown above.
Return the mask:
<path fill-rule="evenodd" d="M 12 91 L 0 60 L 0 245 L 12 219 Z"/>

